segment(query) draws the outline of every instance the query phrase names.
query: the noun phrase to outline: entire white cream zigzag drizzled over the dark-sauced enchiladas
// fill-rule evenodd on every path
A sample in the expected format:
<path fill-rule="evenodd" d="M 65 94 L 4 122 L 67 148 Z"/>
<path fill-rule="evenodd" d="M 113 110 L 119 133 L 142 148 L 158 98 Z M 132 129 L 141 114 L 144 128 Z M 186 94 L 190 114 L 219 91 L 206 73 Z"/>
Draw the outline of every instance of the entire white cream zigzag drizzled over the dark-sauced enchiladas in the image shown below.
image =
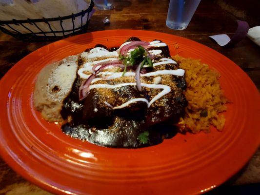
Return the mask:
<path fill-rule="evenodd" d="M 89 71 L 92 72 L 92 67 L 93 65 L 100 63 L 100 62 L 104 62 L 104 61 L 110 61 L 110 60 L 116 60 L 118 58 L 118 51 L 124 46 L 127 45 L 129 43 L 131 43 L 132 41 L 128 41 L 123 43 L 119 49 L 117 51 L 114 52 L 109 52 L 108 50 L 101 48 L 101 47 L 96 47 L 93 48 L 89 51 L 89 53 L 84 52 L 83 53 L 83 57 L 87 58 L 87 59 L 95 59 L 95 58 L 107 58 L 107 59 L 101 59 L 101 60 L 97 60 L 97 61 L 93 61 L 93 62 L 87 62 L 83 65 L 82 68 L 80 68 L 78 70 L 78 74 L 81 78 L 87 79 L 89 78 L 90 75 L 86 75 L 83 72 L 84 71 Z M 149 46 L 153 46 L 153 47 L 165 47 L 167 46 L 166 43 L 164 42 L 160 42 L 160 40 L 155 40 L 155 41 L 151 41 L 149 42 Z M 130 49 L 129 52 L 127 54 L 129 54 L 131 51 L 133 51 L 134 49 Z M 160 55 L 162 51 L 160 49 L 155 49 L 155 50 L 149 50 L 149 53 L 153 54 L 153 55 Z M 159 60 L 159 62 L 156 62 L 153 64 L 153 66 L 159 66 L 162 64 L 177 64 L 176 61 L 174 61 L 173 59 L 168 59 L 168 58 L 162 58 Z M 111 66 L 108 66 L 107 68 L 110 68 Z M 147 66 L 144 66 L 147 67 Z M 98 67 L 97 67 L 98 68 Z M 101 75 L 101 78 L 94 78 L 92 80 L 92 83 L 97 82 L 98 80 L 109 80 L 109 79 L 114 79 L 114 78 L 120 78 L 122 76 L 121 72 L 100 72 L 98 75 Z M 135 72 L 126 72 L 124 77 L 131 77 L 131 76 L 135 76 Z M 183 76 L 184 75 L 184 70 L 182 69 L 177 69 L 177 70 L 159 70 L 159 71 L 155 71 L 155 72 L 150 72 L 150 73 L 146 73 L 146 74 L 140 74 L 140 77 L 151 77 L 151 76 L 158 76 L 158 75 L 177 75 L 177 76 Z M 94 88 L 108 88 L 108 89 L 114 89 L 117 87 L 122 87 L 122 86 L 127 86 L 127 85 L 132 85 L 135 86 L 136 83 L 121 83 L 118 85 L 109 85 L 109 84 L 92 84 L 89 86 L 89 89 L 94 89 Z M 171 91 L 171 88 L 168 85 L 162 85 L 162 84 L 146 84 L 146 83 L 141 83 L 142 87 L 147 87 L 147 88 L 152 88 L 152 89 L 162 89 L 162 91 L 157 94 L 154 98 L 151 99 L 150 102 L 148 102 L 147 99 L 145 98 L 134 98 L 131 99 L 125 103 L 123 103 L 120 106 L 116 106 L 113 107 L 113 109 L 120 109 L 120 108 L 124 108 L 126 106 L 128 106 L 129 104 L 132 104 L 134 102 L 138 102 L 138 101 L 143 101 L 147 103 L 148 108 L 151 106 L 152 103 L 154 103 L 156 100 L 160 99 L 162 96 L 168 94 Z M 109 107 L 111 107 L 110 104 L 108 104 L 107 102 L 105 102 L 106 105 L 108 105 Z"/>

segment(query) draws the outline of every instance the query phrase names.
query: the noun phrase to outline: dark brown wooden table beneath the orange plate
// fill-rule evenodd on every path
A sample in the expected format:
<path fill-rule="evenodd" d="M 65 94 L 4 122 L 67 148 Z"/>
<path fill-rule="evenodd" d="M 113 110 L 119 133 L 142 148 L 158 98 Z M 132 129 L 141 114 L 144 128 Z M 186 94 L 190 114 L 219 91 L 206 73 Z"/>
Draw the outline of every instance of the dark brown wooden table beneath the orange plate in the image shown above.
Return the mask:
<path fill-rule="evenodd" d="M 218 4 L 219 1 L 218 1 Z M 213 0 L 202 0 L 186 30 L 175 31 L 166 27 L 168 0 L 115 0 L 115 9 L 96 11 L 89 24 L 89 32 L 109 29 L 139 29 L 169 33 L 200 42 L 217 50 L 238 64 L 260 89 L 260 47 L 250 39 L 243 39 L 232 48 L 220 47 L 208 36 L 233 35 L 237 28 L 236 18 L 223 10 Z M 104 24 L 107 16 L 111 23 Z M 251 23 L 256 21 L 250 20 Z M 250 23 L 249 23 L 250 24 Z M 28 43 L 0 33 L 0 78 L 21 58 L 49 42 Z M 251 183 L 250 189 L 260 183 L 260 151 L 249 165 L 210 194 L 227 192 L 233 184 Z M 238 189 L 238 188 L 235 188 Z M 233 191 L 232 191 L 233 192 Z M 48 195 L 35 185 L 17 175 L 0 159 L 0 195 Z"/>

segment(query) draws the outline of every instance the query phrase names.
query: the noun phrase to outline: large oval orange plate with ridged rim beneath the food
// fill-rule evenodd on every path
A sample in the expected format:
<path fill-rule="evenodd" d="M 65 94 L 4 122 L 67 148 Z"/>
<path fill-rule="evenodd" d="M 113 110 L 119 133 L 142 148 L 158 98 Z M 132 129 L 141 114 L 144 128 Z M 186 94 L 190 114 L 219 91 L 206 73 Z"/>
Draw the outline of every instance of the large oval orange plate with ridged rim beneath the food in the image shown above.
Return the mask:
<path fill-rule="evenodd" d="M 44 121 L 33 108 L 37 74 L 51 62 L 131 36 L 160 39 L 171 54 L 201 59 L 220 74 L 228 105 L 222 132 L 180 135 L 141 149 L 82 142 Z M 178 42 L 179 50 L 174 49 Z M 250 78 L 230 59 L 192 40 L 150 31 L 87 33 L 46 45 L 21 59 L 0 81 L 0 154 L 21 176 L 57 194 L 200 194 L 235 174 L 260 143 L 260 98 Z"/>

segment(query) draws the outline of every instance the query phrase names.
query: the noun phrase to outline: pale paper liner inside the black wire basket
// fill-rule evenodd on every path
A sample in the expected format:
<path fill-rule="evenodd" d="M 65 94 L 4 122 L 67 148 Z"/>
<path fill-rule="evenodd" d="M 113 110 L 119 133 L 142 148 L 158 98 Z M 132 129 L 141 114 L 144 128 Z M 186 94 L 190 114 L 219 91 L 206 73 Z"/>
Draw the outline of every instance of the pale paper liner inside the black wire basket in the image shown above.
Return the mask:
<path fill-rule="evenodd" d="M 0 20 L 26 20 L 26 19 L 41 19 L 56 18 L 79 13 L 81 10 L 88 8 L 90 0 L 0 0 Z M 87 16 L 83 17 L 83 24 L 86 23 Z M 53 31 L 61 31 L 60 21 L 49 22 Z M 46 23 L 37 23 L 40 29 L 44 32 L 50 31 Z M 74 20 L 75 28 L 80 27 L 81 19 Z M 26 28 L 17 25 L 10 25 L 12 28 L 21 33 L 30 33 Z M 27 28 L 33 32 L 40 30 L 30 24 L 25 24 Z M 5 26 L 6 27 L 6 26 Z M 64 30 L 70 30 L 73 23 L 70 20 L 63 20 L 62 27 Z M 7 27 L 8 30 L 12 30 Z M 13 31 L 13 30 L 12 30 Z M 53 36 L 53 34 L 47 34 Z M 62 36 L 62 33 L 57 34 Z"/>

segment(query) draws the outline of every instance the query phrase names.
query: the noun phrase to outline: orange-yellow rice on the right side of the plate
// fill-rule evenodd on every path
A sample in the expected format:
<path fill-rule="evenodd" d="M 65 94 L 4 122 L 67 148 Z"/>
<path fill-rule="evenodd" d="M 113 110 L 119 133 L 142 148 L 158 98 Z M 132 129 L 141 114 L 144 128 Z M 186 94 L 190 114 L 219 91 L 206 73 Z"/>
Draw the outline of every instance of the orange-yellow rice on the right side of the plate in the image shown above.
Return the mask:
<path fill-rule="evenodd" d="M 183 118 L 185 129 L 192 133 L 209 132 L 210 125 L 221 130 L 225 118 L 220 113 L 226 111 L 227 98 L 220 87 L 220 74 L 198 59 L 173 57 L 185 70 L 187 88 L 184 95 L 188 101 Z"/>

